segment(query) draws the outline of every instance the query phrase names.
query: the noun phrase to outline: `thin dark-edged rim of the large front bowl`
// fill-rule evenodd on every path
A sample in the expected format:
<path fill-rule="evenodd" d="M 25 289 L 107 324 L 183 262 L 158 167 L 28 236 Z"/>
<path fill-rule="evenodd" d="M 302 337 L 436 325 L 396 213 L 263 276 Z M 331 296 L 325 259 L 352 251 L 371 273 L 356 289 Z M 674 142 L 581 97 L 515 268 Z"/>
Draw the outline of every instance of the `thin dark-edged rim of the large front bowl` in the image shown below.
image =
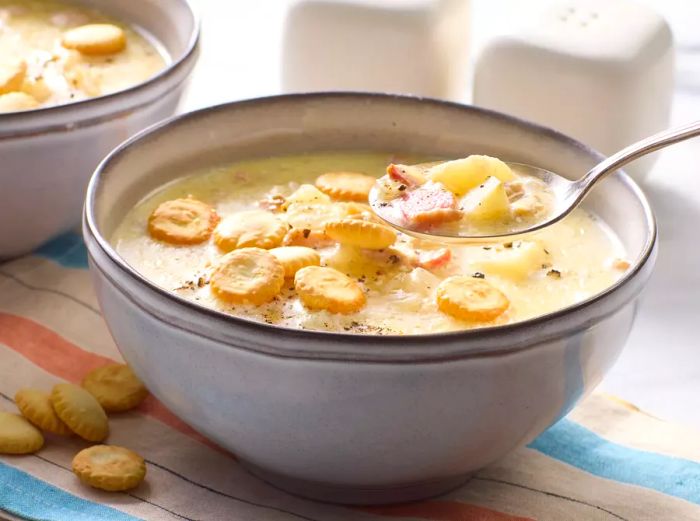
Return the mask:
<path fill-rule="evenodd" d="M 137 147 L 139 143 L 147 139 L 149 137 L 157 137 L 161 135 L 164 132 L 167 132 L 168 129 L 171 126 L 176 126 L 176 125 L 183 125 L 183 124 L 189 124 L 193 121 L 196 121 L 198 118 L 206 117 L 208 114 L 213 113 L 213 112 L 218 112 L 221 110 L 231 110 L 235 109 L 236 107 L 243 107 L 247 105 L 260 105 L 260 104 L 267 104 L 267 103 L 277 103 L 277 102 L 286 102 L 286 101 L 294 101 L 294 100 L 313 100 L 313 99 L 332 99 L 332 98 L 357 98 L 358 100 L 374 100 L 374 99 L 383 99 L 383 100 L 390 100 L 392 102 L 396 103 L 418 103 L 418 104 L 434 104 L 437 106 L 441 107 L 449 107 L 451 109 L 459 110 L 459 111 L 466 111 L 466 112 L 471 112 L 471 113 L 478 113 L 490 118 L 495 118 L 497 120 L 507 122 L 509 124 L 516 124 L 521 127 L 524 127 L 526 129 L 541 133 L 543 135 L 549 136 L 553 139 L 559 140 L 560 142 L 563 142 L 571 147 L 577 148 L 593 157 L 596 157 L 600 160 L 604 159 L 605 156 L 603 156 L 601 153 L 597 152 L 593 148 L 581 143 L 578 140 L 575 140 L 557 130 L 554 130 L 552 128 L 539 125 L 537 123 L 533 123 L 521 118 L 518 118 L 516 116 L 511 116 L 502 112 L 494 111 L 491 109 L 485 109 L 482 107 L 476 107 L 474 105 L 467 105 L 467 104 L 462 104 L 462 103 L 457 103 L 457 102 L 452 102 L 452 101 L 446 101 L 446 100 L 441 100 L 441 99 L 436 99 L 436 98 L 429 98 L 429 97 L 422 97 L 422 96 L 412 96 L 412 95 L 404 95 L 404 94 L 388 94 L 388 93 L 374 93 L 374 92 L 355 92 L 355 91 L 329 91 L 329 92 L 308 92 L 308 93 L 293 93 L 293 94 L 280 94 L 280 95 L 273 95 L 273 96 L 264 96 L 264 97 L 258 97 L 258 98 L 250 98 L 250 99 L 244 99 L 240 101 L 233 101 L 233 102 L 227 102 L 227 103 L 222 103 L 218 105 L 213 105 L 210 107 L 206 107 L 203 109 L 199 109 L 196 111 L 188 112 L 185 114 L 180 114 L 173 116 L 169 119 L 163 120 L 159 123 L 156 123 L 152 125 L 149 128 L 146 128 L 142 130 L 141 132 L 133 135 L 131 138 L 127 139 L 124 141 L 122 144 L 117 146 L 110 154 L 105 157 L 102 162 L 98 165 L 97 169 L 93 173 L 90 183 L 88 185 L 87 193 L 86 193 L 86 199 L 85 199 L 85 206 L 83 209 L 83 230 L 84 230 L 84 235 L 86 242 L 90 243 L 88 239 L 92 239 L 99 249 L 101 250 L 102 253 L 104 253 L 107 258 L 119 269 L 120 272 L 128 276 L 132 281 L 134 281 L 137 285 L 143 285 L 145 286 L 146 289 L 155 292 L 156 295 L 165 298 L 168 301 L 173 302 L 174 304 L 178 306 L 183 306 L 184 308 L 188 309 L 189 311 L 195 313 L 195 315 L 205 315 L 208 318 L 215 319 L 217 322 L 221 322 L 226 325 L 234 325 L 238 328 L 245 328 L 247 331 L 250 331 L 251 333 L 263 333 L 263 334 L 279 334 L 279 335 L 286 335 L 287 337 L 290 338 L 296 338 L 296 339 L 302 339 L 302 340 L 309 340 L 309 341 L 319 341 L 319 340 L 325 340 L 328 342 L 334 342 L 334 343 L 342 343 L 346 347 L 357 347 L 358 345 L 361 344 L 361 342 L 358 342 L 360 339 L 371 339 L 373 341 L 378 341 L 382 344 L 382 346 L 387 346 L 390 349 L 391 348 L 398 348 L 399 350 L 401 348 L 406 348 L 407 346 L 414 346 L 418 347 L 421 344 L 430 344 L 432 347 L 426 347 L 428 350 L 433 350 L 434 351 L 434 342 L 439 342 L 439 341 L 455 341 L 455 340 L 464 340 L 464 341 L 477 341 L 477 340 L 483 340 L 483 339 L 488 339 L 488 338 L 495 338 L 495 337 L 500 337 L 502 335 L 517 335 L 517 333 L 525 332 L 527 330 L 531 330 L 532 328 L 538 328 L 542 326 L 543 324 L 553 322 L 558 319 L 562 319 L 565 317 L 571 317 L 572 315 L 575 315 L 576 313 L 580 312 L 583 309 L 590 308 L 591 306 L 597 304 L 599 301 L 605 299 L 606 297 L 610 296 L 613 293 L 618 292 L 621 288 L 627 286 L 633 279 L 636 278 L 637 274 L 639 274 L 642 269 L 646 266 L 647 262 L 652 258 L 652 255 L 655 252 L 655 246 L 657 244 L 657 239 L 658 239 L 658 228 L 657 228 L 657 223 L 656 223 L 656 218 L 654 216 L 654 212 L 649 204 L 649 201 L 647 200 L 646 196 L 644 195 L 643 191 L 641 188 L 637 185 L 636 182 L 624 171 L 618 170 L 614 175 L 618 176 L 620 181 L 625 185 L 625 187 L 630 190 L 630 192 L 633 194 L 633 196 L 641 203 L 644 215 L 646 217 L 646 240 L 644 243 L 644 246 L 642 248 L 641 255 L 637 259 L 637 261 L 631 266 L 631 268 L 622 276 L 620 279 L 618 279 L 614 284 L 611 286 L 607 287 L 603 291 L 596 293 L 595 295 L 592 295 L 591 297 L 581 301 L 577 302 L 575 304 L 572 304 L 570 306 L 557 309 L 555 311 L 552 311 L 551 313 L 547 313 L 544 315 L 539 315 L 527 320 L 522 320 L 519 322 L 514 322 L 510 324 L 504 324 L 504 325 L 498 325 L 498 326 L 486 326 L 486 327 L 480 327 L 480 328 L 474 328 L 474 329 L 464 329 L 464 330 L 456 330 L 456 331 L 445 331 L 445 332 L 439 332 L 439 333 L 427 333 L 427 334 L 407 334 L 407 335 L 364 335 L 364 334 L 356 334 L 356 333 L 344 333 L 344 332 L 330 332 L 330 331 L 317 331 L 317 330 L 306 330 L 306 329 L 297 329 L 297 328 L 291 328 L 291 327 L 285 327 L 285 326 L 277 326 L 274 324 L 267 324 L 267 323 L 262 323 L 262 322 L 257 322 L 251 319 L 247 318 L 242 318 L 242 317 L 237 317 L 234 315 L 230 315 L 228 313 L 224 313 L 222 311 L 218 311 L 206 306 L 203 306 L 201 304 L 198 304 L 196 302 L 193 302 L 191 300 L 185 299 L 184 297 L 180 297 L 178 295 L 175 295 L 174 293 L 161 288 L 154 282 L 150 281 L 147 279 L 145 276 L 141 275 L 138 270 L 133 268 L 124 258 L 119 255 L 116 250 L 112 247 L 110 244 L 109 240 L 107 240 L 105 237 L 102 236 L 102 234 L 99 232 L 97 223 L 96 223 L 96 217 L 95 217 L 95 204 L 96 204 L 96 198 L 97 198 L 97 191 L 99 189 L 100 183 L 101 183 L 101 177 L 104 175 L 105 170 L 114 162 L 116 161 L 122 154 L 128 153 L 128 151 L 134 147 Z M 88 247 L 88 253 L 91 257 L 91 259 L 94 260 L 94 256 L 92 253 L 89 251 Z M 104 271 L 104 268 L 102 266 L 97 265 L 96 266 L 99 271 L 101 272 L 102 275 L 107 275 Z M 109 276 L 108 276 L 109 277 Z M 109 277 L 110 280 L 112 279 Z M 114 282 L 114 281 L 112 281 Z M 136 303 L 135 300 L 130 299 L 133 303 Z M 149 312 L 150 314 L 153 314 L 151 310 L 146 309 L 143 305 L 140 303 L 137 303 L 139 307 L 141 307 L 142 310 Z M 163 319 L 162 317 L 158 317 L 160 319 Z M 169 321 L 166 320 L 170 325 L 180 328 L 180 329 L 188 329 L 183 326 L 183 324 L 174 322 L 174 321 Z M 188 329 L 189 330 L 189 329 Z M 193 331 L 196 334 L 202 335 L 202 331 Z M 204 334 L 203 336 L 206 336 L 210 339 L 215 339 L 215 340 L 222 340 L 222 338 L 218 337 L 216 334 L 212 334 L 209 332 L 208 334 Z M 225 340 L 222 340 L 225 341 Z M 493 347 L 493 348 L 486 348 L 483 350 L 477 350 L 473 352 L 472 354 L 474 355 L 491 355 L 491 354 L 497 354 L 500 352 L 510 352 L 513 350 L 520 350 L 520 347 L 512 347 L 512 348 L 504 348 L 504 347 Z M 254 347 L 249 348 L 249 350 L 253 351 L 258 351 Z M 304 353 L 306 353 L 308 356 L 304 356 L 302 353 L 301 356 L 299 355 L 299 350 L 293 350 L 294 354 L 282 354 L 285 351 L 284 346 L 281 346 L 277 348 L 277 351 L 280 352 L 280 356 L 293 356 L 294 358 L 329 358 L 327 355 L 324 356 L 323 353 L 315 353 L 315 350 L 308 349 L 308 350 L 303 350 Z M 267 353 L 269 354 L 269 353 Z M 396 354 L 396 353 L 395 353 Z M 337 359 L 337 357 L 330 357 L 333 359 Z M 436 358 L 440 358 L 439 356 Z M 460 358 L 462 358 L 460 356 Z M 354 359 L 354 358 L 352 358 Z M 363 359 L 362 357 L 360 359 Z M 376 361 L 376 360 L 375 360 Z"/>

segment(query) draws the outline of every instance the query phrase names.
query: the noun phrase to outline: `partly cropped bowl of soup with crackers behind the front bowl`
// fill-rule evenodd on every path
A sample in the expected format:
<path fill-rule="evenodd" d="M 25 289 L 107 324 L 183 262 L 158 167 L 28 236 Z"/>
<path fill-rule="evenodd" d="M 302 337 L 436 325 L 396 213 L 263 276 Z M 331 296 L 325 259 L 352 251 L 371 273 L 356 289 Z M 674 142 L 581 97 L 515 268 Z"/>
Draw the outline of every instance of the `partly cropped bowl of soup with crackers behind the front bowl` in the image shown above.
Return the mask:
<path fill-rule="evenodd" d="M 0 0 L 0 259 L 79 225 L 117 144 L 174 114 L 197 58 L 186 0 Z"/>

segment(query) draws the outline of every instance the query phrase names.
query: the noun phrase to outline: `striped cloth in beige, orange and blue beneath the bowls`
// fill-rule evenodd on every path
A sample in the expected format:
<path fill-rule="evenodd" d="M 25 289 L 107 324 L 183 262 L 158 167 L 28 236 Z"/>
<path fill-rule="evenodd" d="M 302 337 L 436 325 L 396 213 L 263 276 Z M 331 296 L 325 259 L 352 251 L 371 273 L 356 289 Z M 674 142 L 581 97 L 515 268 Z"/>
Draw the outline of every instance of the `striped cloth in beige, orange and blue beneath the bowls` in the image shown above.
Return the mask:
<path fill-rule="evenodd" d="M 120 360 L 92 293 L 77 234 L 0 265 L 0 409 L 15 391 L 79 382 Z M 109 443 L 142 454 L 146 482 L 128 493 L 81 485 L 86 444 L 48 438 L 31 456 L 0 457 L 0 518 L 51 521 L 414 519 L 437 521 L 700 520 L 700 435 L 593 395 L 527 448 L 441 498 L 345 508 L 295 498 L 248 475 L 149 398 L 111 417 Z"/>

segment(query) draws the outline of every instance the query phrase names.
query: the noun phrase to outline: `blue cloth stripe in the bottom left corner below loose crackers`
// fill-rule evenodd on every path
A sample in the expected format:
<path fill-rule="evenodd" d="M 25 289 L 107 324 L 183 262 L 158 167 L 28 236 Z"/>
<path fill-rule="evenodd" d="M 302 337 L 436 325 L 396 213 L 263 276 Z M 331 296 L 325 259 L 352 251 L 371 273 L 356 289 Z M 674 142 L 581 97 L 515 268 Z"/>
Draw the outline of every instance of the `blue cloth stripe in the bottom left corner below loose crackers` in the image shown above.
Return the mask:
<path fill-rule="evenodd" d="M 32 521 L 140 521 L 69 494 L 1 461 L 0 510 Z"/>

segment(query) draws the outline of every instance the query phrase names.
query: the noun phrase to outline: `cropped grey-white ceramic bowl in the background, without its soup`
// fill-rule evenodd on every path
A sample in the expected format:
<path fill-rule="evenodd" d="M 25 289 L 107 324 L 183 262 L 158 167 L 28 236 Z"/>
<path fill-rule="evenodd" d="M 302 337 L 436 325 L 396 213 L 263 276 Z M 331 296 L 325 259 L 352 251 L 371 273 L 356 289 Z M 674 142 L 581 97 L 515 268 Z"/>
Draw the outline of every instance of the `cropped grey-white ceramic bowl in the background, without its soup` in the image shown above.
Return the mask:
<path fill-rule="evenodd" d="M 154 36 L 170 65 L 129 89 L 77 103 L 0 114 L 0 259 L 80 223 L 90 175 L 116 145 L 172 116 L 198 54 L 187 0 L 83 2 Z"/>

